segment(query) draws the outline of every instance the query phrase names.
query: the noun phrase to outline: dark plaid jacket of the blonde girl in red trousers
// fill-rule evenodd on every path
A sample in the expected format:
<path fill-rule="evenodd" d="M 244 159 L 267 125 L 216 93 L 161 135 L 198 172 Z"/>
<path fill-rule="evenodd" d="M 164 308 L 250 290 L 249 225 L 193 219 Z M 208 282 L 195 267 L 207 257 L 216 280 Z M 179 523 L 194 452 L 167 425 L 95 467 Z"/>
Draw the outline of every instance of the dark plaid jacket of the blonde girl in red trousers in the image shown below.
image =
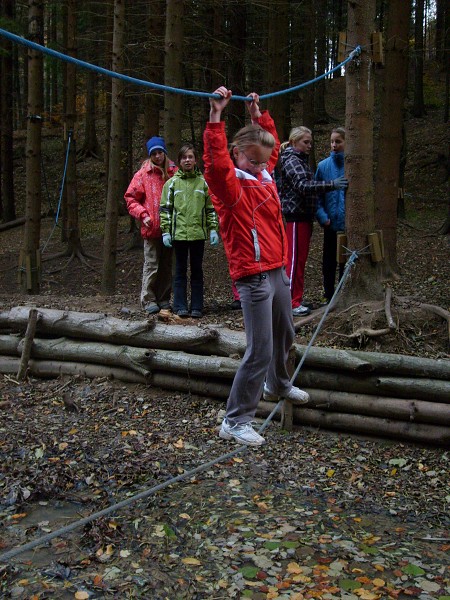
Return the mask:
<path fill-rule="evenodd" d="M 281 205 L 289 222 L 312 222 L 318 195 L 333 188 L 332 181 L 316 181 L 308 155 L 288 146 L 281 154 Z"/>

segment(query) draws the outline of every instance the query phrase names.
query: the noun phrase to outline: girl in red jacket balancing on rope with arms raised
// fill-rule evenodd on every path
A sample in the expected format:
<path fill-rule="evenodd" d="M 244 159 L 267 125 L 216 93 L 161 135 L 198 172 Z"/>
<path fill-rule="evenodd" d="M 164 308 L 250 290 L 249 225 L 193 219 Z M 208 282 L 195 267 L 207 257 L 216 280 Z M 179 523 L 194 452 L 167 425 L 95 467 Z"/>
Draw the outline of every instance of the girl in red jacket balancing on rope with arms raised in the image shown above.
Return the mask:
<path fill-rule="evenodd" d="M 287 397 L 307 402 L 308 394 L 293 387 L 286 363 L 294 340 L 291 294 L 286 275 L 286 235 L 281 205 L 270 173 L 280 142 L 259 97 L 249 95 L 252 124 L 238 131 L 228 152 L 222 111 L 231 90 L 219 87 L 210 98 L 204 132 L 205 179 L 221 227 L 230 275 L 239 292 L 247 339 L 241 365 L 231 387 L 219 435 L 250 446 L 264 438 L 252 427 L 261 394 L 266 400 Z"/>

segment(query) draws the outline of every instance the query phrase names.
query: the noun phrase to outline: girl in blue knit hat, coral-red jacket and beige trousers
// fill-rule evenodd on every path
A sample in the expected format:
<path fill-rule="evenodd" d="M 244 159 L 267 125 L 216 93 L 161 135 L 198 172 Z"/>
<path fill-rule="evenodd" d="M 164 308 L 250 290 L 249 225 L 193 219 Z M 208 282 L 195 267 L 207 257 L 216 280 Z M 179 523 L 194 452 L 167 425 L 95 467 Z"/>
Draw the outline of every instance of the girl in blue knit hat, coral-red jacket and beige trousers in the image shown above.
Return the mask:
<path fill-rule="evenodd" d="M 170 307 L 172 248 L 162 243 L 159 207 L 163 186 L 178 167 L 169 160 L 162 137 L 150 138 L 146 146 L 149 158 L 131 180 L 125 201 L 130 215 L 140 221 L 144 238 L 141 305 L 154 314 Z"/>

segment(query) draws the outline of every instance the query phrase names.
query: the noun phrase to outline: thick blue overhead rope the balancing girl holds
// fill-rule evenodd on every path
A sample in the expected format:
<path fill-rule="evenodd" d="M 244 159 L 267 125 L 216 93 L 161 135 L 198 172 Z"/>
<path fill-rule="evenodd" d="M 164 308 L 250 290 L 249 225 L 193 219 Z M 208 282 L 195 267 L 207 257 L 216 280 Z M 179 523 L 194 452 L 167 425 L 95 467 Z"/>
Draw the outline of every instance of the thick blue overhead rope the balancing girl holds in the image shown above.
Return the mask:
<path fill-rule="evenodd" d="M 46 48 L 45 46 L 36 44 L 35 42 L 32 42 L 23 37 L 20 37 L 19 35 L 15 35 L 14 33 L 11 33 L 10 31 L 6 31 L 6 29 L 0 29 L 0 35 L 2 35 L 3 37 L 7 38 L 8 40 L 10 40 L 16 44 L 21 44 L 22 46 L 27 46 L 28 48 L 32 48 L 33 50 L 36 50 L 38 52 L 43 52 L 44 54 L 48 54 L 49 56 L 53 56 L 54 58 L 58 58 L 59 60 L 64 60 L 65 62 L 72 63 L 74 65 L 82 67 L 83 69 L 90 69 L 91 71 L 101 73 L 102 75 L 107 75 L 108 77 L 114 77 L 115 79 L 121 79 L 122 81 L 126 81 L 127 83 L 133 83 L 135 85 L 142 85 L 145 87 L 153 88 L 155 90 L 161 90 L 162 92 L 172 92 L 173 94 L 183 94 L 185 96 L 196 96 L 198 98 L 221 98 L 221 96 L 219 96 L 218 94 L 211 94 L 208 92 L 197 92 L 194 90 L 184 90 L 182 88 L 175 88 L 175 87 L 171 87 L 169 85 L 153 83 L 152 81 L 145 81 L 144 79 L 136 79 L 135 77 L 129 77 L 128 75 L 122 75 L 122 73 L 115 73 L 114 71 L 109 71 L 108 69 L 104 69 L 103 67 L 98 67 L 97 65 L 93 65 L 91 63 L 85 62 L 84 60 L 79 60 L 78 58 L 74 58 L 73 56 L 68 56 L 67 54 L 63 54 L 62 52 L 58 52 L 57 50 L 52 50 L 51 48 Z M 271 92 L 270 94 L 264 94 L 264 95 L 260 96 L 259 99 L 267 100 L 268 98 L 273 98 L 275 96 L 280 96 L 282 94 L 289 94 L 291 92 L 295 92 L 295 91 L 297 91 L 303 87 L 306 87 L 308 85 L 312 85 L 313 83 L 316 83 L 316 81 L 320 81 L 321 79 L 324 79 L 331 73 L 334 73 L 334 71 L 337 71 L 338 69 L 340 69 L 341 67 L 346 65 L 349 61 L 353 60 L 356 56 L 359 56 L 359 54 L 361 54 L 361 47 L 357 46 L 354 50 L 352 50 L 352 52 L 350 52 L 350 54 L 344 61 L 339 63 L 336 67 L 334 67 L 330 71 L 323 73 L 323 75 L 319 75 L 318 77 L 315 77 L 314 79 L 311 79 L 310 81 L 305 81 L 304 83 L 301 83 L 299 85 L 296 85 L 294 87 L 291 87 L 291 88 L 288 88 L 285 90 L 279 90 L 278 92 Z M 244 100 L 245 102 L 249 101 L 248 96 L 238 96 L 238 95 L 234 96 L 233 95 L 231 97 L 231 99 L 232 100 Z"/>

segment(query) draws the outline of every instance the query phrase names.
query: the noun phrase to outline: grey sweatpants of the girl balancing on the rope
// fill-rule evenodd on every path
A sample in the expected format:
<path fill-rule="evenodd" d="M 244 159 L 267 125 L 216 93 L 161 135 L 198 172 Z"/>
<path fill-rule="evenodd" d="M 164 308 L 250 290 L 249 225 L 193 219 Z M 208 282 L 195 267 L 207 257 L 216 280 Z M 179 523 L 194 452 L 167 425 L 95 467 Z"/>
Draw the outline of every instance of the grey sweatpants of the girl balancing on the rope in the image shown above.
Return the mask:
<path fill-rule="evenodd" d="M 292 387 L 287 359 L 295 335 L 289 278 L 284 267 L 239 279 L 236 287 L 247 348 L 227 402 L 226 418 L 231 426 L 253 419 L 264 380 L 275 394 Z"/>

